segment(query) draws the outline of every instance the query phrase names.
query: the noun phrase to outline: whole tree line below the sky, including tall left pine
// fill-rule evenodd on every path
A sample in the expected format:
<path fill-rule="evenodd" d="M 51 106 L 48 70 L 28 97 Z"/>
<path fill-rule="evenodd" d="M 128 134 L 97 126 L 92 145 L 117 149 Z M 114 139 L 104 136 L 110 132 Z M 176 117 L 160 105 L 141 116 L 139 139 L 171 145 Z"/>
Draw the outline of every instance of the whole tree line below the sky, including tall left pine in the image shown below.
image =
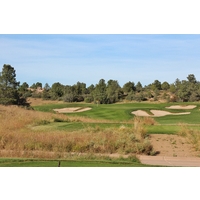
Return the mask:
<path fill-rule="evenodd" d="M 28 105 L 27 98 L 42 98 L 45 100 L 63 100 L 65 102 L 86 102 L 98 104 L 111 104 L 120 101 L 158 101 L 167 102 L 193 102 L 200 100 L 200 82 L 194 74 L 189 74 L 187 80 L 174 83 L 155 80 L 153 83 L 142 86 L 140 82 L 128 81 L 121 87 L 117 80 L 105 81 L 100 79 L 97 84 L 89 87 L 85 83 L 77 82 L 74 85 L 63 85 L 59 82 L 49 86 L 37 82 L 28 85 L 20 84 L 16 80 L 16 71 L 11 65 L 3 65 L 0 73 L 0 104 Z"/>

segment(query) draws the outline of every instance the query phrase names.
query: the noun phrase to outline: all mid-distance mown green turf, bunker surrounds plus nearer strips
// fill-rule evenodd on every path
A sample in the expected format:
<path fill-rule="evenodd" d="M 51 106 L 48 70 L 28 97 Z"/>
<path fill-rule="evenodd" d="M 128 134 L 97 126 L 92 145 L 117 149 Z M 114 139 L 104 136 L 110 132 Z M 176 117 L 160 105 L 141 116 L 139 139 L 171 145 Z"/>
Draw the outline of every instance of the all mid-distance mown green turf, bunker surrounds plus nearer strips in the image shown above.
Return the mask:
<path fill-rule="evenodd" d="M 197 105 L 196 108 L 191 110 L 175 110 L 166 109 L 171 105 Z M 118 104 L 86 104 L 86 103 L 63 103 L 63 104 L 47 104 L 42 106 L 35 106 L 34 109 L 43 112 L 53 112 L 55 108 L 65 107 L 91 107 L 92 109 L 86 112 L 70 113 L 67 116 L 84 116 L 96 120 L 109 120 L 109 123 L 80 123 L 80 122 L 62 122 L 51 123 L 35 127 L 36 129 L 59 129 L 66 131 L 74 131 L 84 129 L 86 127 L 100 127 L 100 128 L 112 128 L 120 127 L 122 124 L 131 126 L 130 120 L 134 118 L 131 114 L 135 110 L 144 110 L 151 113 L 150 110 L 165 110 L 172 113 L 179 112 L 191 112 L 189 115 L 168 115 L 164 117 L 155 117 L 156 125 L 146 126 L 148 133 L 163 133 L 163 134 L 175 134 L 179 131 L 180 123 L 188 124 L 190 128 L 200 130 L 200 104 L 199 103 L 118 103 Z"/>

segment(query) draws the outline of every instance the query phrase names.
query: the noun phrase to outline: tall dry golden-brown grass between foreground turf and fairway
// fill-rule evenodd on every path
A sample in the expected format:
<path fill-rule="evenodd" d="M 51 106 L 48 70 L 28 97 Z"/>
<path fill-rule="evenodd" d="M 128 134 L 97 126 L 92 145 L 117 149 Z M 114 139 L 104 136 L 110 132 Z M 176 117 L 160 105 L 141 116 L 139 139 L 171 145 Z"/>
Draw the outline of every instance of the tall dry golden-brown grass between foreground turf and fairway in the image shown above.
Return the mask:
<path fill-rule="evenodd" d="M 133 127 L 86 127 L 75 132 L 34 131 L 32 125 L 63 121 L 92 121 L 61 114 L 25 110 L 15 106 L 0 106 L 0 156 L 58 157 L 66 152 L 152 154 L 144 121 L 135 119 Z"/>

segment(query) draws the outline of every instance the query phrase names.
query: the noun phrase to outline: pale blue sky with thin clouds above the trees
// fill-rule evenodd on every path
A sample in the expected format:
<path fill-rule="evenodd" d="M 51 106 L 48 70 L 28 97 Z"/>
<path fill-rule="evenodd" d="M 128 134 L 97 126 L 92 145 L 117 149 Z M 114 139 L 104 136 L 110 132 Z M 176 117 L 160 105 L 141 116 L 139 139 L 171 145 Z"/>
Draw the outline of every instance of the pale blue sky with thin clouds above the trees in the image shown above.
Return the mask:
<path fill-rule="evenodd" d="M 17 80 L 87 86 L 100 79 L 148 85 L 173 83 L 194 74 L 200 80 L 200 35 L 180 34 L 1 34 L 0 66 Z"/>

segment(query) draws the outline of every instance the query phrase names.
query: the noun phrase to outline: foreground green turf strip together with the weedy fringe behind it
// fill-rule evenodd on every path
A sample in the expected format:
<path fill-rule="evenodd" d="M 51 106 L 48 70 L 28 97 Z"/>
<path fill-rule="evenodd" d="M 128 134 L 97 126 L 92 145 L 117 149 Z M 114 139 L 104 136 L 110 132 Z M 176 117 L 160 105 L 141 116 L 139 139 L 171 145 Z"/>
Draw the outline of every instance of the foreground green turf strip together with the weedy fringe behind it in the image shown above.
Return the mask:
<path fill-rule="evenodd" d="M 135 156 L 70 155 L 65 159 L 0 158 L 0 167 L 151 167 L 141 164 Z M 155 165 L 153 166 L 155 167 Z"/>

